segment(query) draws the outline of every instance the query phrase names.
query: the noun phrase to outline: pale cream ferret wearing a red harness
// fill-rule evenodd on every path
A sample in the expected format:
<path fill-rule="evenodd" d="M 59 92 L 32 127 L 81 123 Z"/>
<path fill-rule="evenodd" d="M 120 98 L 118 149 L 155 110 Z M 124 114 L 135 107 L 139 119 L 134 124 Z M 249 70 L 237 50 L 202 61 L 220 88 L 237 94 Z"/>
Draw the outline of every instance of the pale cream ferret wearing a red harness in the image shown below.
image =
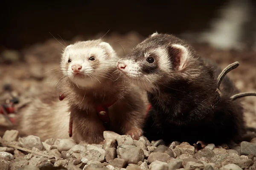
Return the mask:
<path fill-rule="evenodd" d="M 118 59 L 111 45 L 101 39 L 68 45 L 61 56 L 60 87 L 42 92 L 18 110 L 16 129 L 22 136 L 35 135 L 41 140 L 68 139 L 71 116 L 72 138 L 77 143 L 101 143 L 104 130 L 138 139 L 148 104 L 143 91 L 118 73 Z M 59 94 L 65 96 L 62 101 Z M 99 118 L 99 105 L 108 105 L 109 124 Z"/>

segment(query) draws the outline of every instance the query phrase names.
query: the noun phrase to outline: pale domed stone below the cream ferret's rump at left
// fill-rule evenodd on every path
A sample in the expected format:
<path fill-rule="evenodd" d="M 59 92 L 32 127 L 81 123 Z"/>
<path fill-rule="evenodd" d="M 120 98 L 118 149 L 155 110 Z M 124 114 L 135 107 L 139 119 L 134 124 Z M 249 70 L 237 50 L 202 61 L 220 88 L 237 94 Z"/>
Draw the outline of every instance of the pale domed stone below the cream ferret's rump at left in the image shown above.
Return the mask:
<path fill-rule="evenodd" d="M 23 140 L 23 147 L 26 149 L 32 149 L 33 147 L 39 150 L 44 149 L 44 145 L 38 136 L 29 135 Z"/>

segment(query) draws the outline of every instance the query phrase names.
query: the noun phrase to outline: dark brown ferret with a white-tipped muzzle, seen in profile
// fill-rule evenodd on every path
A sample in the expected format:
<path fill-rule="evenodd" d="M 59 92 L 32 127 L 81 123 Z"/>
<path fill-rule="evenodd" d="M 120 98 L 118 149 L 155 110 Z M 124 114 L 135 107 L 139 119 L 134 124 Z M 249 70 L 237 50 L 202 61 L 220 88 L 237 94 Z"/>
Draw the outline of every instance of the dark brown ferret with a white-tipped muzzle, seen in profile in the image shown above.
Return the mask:
<path fill-rule="evenodd" d="M 152 105 L 144 127 L 148 140 L 222 144 L 237 142 L 245 133 L 241 103 L 230 99 L 238 89 L 226 75 L 220 86 L 221 101 L 213 109 L 222 70 L 185 40 L 156 32 L 116 66 L 147 91 Z"/>

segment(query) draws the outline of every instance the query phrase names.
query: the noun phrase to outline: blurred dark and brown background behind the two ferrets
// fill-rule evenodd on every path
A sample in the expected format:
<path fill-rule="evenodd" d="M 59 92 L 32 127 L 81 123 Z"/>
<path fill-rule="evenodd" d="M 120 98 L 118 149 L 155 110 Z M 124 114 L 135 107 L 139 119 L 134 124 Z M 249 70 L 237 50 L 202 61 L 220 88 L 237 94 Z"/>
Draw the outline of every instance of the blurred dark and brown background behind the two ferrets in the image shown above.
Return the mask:
<path fill-rule="evenodd" d="M 126 53 L 131 50 L 128 40 L 136 45 L 154 31 L 175 34 L 221 67 L 239 61 L 228 76 L 241 91 L 256 91 L 254 0 L 1 0 L 0 7 L 0 85 L 11 85 L 21 102 L 58 82 L 54 69 L 61 44 L 96 39 L 108 30 L 104 40 L 120 56 L 120 45 Z M 0 88 L 0 102 L 8 98 Z M 247 124 L 256 127 L 256 97 L 244 98 L 244 105 Z"/>

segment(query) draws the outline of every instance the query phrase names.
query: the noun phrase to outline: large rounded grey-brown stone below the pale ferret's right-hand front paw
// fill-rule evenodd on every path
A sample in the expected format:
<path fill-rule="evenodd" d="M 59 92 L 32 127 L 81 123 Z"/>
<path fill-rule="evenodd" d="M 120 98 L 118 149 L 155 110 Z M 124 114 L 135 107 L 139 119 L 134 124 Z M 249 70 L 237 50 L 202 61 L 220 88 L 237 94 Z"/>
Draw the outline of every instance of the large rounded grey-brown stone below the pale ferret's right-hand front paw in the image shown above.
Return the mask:
<path fill-rule="evenodd" d="M 139 161 L 144 161 L 144 158 L 144 152 L 139 147 L 125 150 L 122 154 L 122 159 L 125 159 L 128 164 L 138 164 Z"/>

